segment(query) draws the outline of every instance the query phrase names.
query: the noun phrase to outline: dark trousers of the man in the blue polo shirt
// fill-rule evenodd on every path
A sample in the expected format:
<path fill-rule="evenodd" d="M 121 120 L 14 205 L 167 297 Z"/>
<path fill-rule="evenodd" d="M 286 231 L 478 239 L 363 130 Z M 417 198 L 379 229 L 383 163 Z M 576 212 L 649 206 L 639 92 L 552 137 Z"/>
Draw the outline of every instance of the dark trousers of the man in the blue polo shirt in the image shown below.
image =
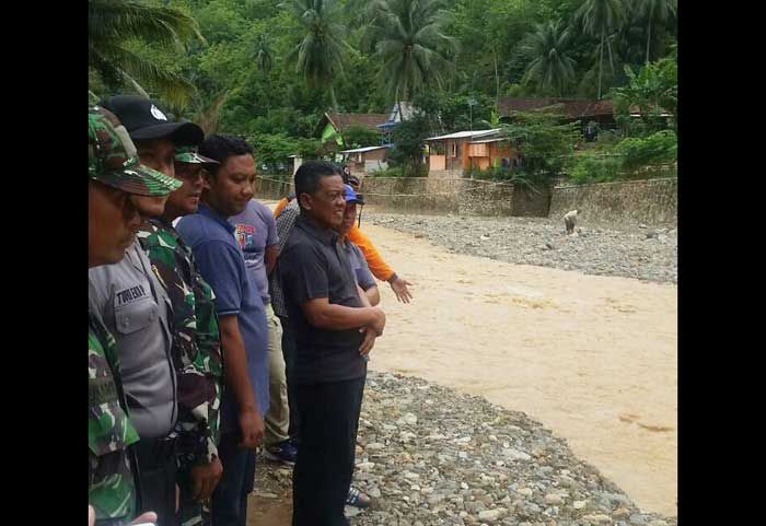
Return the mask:
<path fill-rule="evenodd" d="M 221 433 L 223 476 L 212 493 L 212 526 L 246 526 L 247 495 L 255 481 L 255 451 L 240 447 L 241 433 Z"/>

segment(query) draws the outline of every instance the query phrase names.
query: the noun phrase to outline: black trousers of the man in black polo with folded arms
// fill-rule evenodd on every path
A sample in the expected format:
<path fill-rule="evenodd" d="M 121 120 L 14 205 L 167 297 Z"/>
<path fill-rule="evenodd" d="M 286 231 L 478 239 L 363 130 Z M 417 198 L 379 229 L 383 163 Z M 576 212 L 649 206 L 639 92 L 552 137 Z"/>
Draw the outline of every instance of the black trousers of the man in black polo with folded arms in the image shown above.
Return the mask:
<path fill-rule="evenodd" d="M 293 526 L 347 526 L 364 377 L 298 385 L 300 447 L 292 475 Z"/>

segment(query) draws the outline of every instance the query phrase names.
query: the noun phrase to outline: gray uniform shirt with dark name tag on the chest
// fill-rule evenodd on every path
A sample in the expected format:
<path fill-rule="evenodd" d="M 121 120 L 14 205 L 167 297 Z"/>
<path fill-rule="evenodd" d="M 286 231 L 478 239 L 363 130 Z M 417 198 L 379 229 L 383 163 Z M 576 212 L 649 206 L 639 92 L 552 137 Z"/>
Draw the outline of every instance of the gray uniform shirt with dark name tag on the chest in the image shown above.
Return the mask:
<path fill-rule="evenodd" d="M 139 436 L 167 436 L 178 412 L 171 303 L 138 239 L 118 264 L 88 270 L 88 301 L 117 341 L 123 389 Z"/>

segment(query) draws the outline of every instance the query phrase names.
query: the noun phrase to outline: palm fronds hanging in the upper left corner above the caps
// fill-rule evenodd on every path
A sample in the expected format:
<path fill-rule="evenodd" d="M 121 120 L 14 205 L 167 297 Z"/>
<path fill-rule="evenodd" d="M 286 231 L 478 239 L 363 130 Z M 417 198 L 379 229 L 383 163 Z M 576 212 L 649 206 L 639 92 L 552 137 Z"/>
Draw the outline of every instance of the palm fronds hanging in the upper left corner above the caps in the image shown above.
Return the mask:
<path fill-rule="evenodd" d="M 178 73 L 130 51 L 125 43 L 131 38 L 183 48 L 190 38 L 205 42 L 197 22 L 175 8 L 136 0 L 88 0 L 89 66 L 112 84 L 127 80 L 148 96 L 140 81 L 154 85 L 167 102 L 184 104 L 194 85 Z"/>

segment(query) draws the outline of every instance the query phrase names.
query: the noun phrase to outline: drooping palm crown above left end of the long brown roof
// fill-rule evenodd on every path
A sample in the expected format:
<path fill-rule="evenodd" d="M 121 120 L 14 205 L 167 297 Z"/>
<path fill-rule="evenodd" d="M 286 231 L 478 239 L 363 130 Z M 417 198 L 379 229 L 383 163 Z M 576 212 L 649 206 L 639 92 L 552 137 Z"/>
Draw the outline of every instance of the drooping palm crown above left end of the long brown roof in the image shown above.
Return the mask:
<path fill-rule="evenodd" d="M 562 96 L 567 84 L 574 79 L 576 62 L 567 52 L 569 36 L 561 21 L 538 24 L 525 46 L 534 58 L 526 68 L 524 81 L 534 80 L 538 89 Z"/>

